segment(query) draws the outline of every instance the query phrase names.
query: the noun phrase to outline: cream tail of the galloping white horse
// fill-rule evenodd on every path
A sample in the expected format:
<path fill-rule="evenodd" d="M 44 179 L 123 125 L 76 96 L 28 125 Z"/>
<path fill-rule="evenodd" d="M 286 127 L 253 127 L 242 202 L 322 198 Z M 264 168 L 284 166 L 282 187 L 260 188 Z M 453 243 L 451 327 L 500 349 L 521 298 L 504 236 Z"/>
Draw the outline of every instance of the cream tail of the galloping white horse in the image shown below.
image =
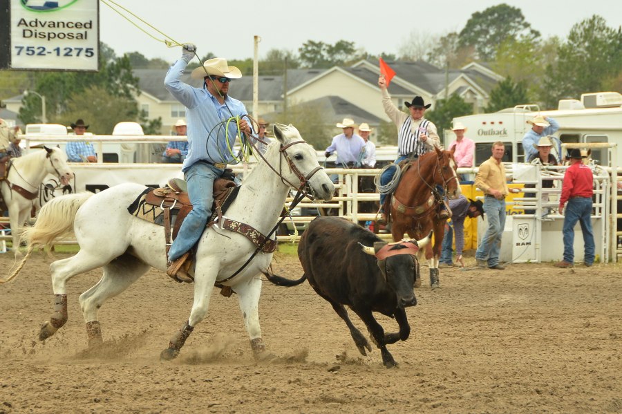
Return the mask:
<path fill-rule="evenodd" d="M 37 221 L 32 227 L 22 230 L 21 236 L 28 243 L 28 251 L 23 256 L 21 263 L 8 279 L 0 279 L 0 283 L 6 283 L 15 279 L 23 265 L 26 264 L 35 247 L 49 247 L 62 236 L 66 236 L 73 229 L 73 220 L 80 206 L 82 206 L 93 193 L 68 194 L 48 201 L 37 214 Z"/>

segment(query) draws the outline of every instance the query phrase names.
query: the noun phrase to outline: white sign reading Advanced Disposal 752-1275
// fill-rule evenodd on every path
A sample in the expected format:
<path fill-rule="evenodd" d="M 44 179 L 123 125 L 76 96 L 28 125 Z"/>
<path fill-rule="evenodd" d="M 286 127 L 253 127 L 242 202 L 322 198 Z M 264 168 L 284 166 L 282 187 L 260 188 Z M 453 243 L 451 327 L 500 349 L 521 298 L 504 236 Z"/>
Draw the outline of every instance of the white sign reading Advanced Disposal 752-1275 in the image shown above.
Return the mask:
<path fill-rule="evenodd" d="M 97 70 L 98 0 L 10 0 L 10 67 Z"/>

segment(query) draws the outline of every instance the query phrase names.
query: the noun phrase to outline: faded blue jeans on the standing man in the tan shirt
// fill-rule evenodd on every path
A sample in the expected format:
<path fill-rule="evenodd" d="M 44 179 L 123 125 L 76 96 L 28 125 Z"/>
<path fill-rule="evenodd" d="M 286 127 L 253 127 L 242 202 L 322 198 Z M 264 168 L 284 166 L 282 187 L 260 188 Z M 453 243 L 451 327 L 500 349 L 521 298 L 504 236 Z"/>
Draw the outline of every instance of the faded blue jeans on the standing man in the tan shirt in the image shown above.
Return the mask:
<path fill-rule="evenodd" d="M 505 199 L 497 200 L 492 196 L 485 196 L 484 213 L 488 218 L 488 228 L 475 252 L 475 258 L 477 260 L 488 258 L 488 265 L 494 266 L 499 264 L 501 238 L 505 227 Z"/>

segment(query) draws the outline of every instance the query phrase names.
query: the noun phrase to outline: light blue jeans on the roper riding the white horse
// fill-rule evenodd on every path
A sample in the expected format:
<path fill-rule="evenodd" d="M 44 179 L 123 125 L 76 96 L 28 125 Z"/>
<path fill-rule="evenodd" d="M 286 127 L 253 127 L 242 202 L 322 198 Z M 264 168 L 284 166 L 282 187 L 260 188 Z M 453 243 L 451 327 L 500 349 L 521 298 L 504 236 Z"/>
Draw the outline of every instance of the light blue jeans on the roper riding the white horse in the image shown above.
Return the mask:
<path fill-rule="evenodd" d="M 223 175 L 223 170 L 205 162 L 195 162 L 185 172 L 188 182 L 188 196 L 192 211 L 184 219 L 177 238 L 169 250 L 169 261 L 174 261 L 196 244 L 205 230 L 214 203 L 214 180 Z"/>

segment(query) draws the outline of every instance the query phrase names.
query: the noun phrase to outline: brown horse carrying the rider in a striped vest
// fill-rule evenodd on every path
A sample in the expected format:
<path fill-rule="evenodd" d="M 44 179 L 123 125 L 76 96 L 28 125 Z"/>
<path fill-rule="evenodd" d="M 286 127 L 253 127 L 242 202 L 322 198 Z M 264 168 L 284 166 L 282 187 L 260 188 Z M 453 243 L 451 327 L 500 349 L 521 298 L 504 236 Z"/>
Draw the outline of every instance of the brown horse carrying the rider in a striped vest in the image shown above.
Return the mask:
<path fill-rule="evenodd" d="M 416 240 L 434 232 L 434 246 L 426 246 L 426 259 L 430 265 L 430 285 L 439 288 L 438 261 L 443 242 L 446 220 L 438 218 L 439 207 L 436 185 L 443 187 L 447 197 L 460 196 L 460 183 L 455 173 L 452 151 L 436 149 L 411 162 L 402 173 L 397 189 L 390 198 L 391 234 L 400 241 L 404 233 Z M 387 211 L 385 209 L 385 211 Z M 417 287 L 421 281 L 417 281 Z"/>

